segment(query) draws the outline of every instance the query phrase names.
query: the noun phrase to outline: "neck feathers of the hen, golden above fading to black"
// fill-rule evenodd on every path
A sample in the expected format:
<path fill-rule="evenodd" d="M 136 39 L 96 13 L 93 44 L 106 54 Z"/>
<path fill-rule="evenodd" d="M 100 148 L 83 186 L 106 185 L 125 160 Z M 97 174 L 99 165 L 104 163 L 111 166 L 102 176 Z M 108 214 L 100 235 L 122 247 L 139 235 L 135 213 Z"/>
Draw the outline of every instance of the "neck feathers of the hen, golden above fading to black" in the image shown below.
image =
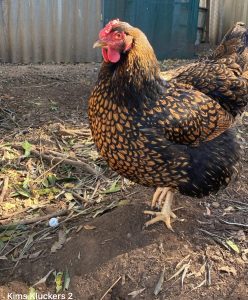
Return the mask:
<path fill-rule="evenodd" d="M 104 63 L 99 80 L 109 86 L 114 101 L 137 107 L 143 102 L 157 100 L 163 93 L 166 83 L 159 74 L 153 49 L 142 46 L 122 55 L 116 64 Z"/>

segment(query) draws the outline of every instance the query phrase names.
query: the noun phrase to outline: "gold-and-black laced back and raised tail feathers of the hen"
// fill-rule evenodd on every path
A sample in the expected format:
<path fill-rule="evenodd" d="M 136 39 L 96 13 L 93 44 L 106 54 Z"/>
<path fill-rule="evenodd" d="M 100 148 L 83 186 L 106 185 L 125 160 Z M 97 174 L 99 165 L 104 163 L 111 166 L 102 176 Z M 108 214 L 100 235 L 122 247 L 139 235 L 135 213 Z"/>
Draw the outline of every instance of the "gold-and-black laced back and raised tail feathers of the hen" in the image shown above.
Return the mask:
<path fill-rule="evenodd" d="M 207 58 L 161 72 L 165 80 L 193 86 L 215 99 L 234 117 L 248 101 L 248 31 L 236 23 Z"/>

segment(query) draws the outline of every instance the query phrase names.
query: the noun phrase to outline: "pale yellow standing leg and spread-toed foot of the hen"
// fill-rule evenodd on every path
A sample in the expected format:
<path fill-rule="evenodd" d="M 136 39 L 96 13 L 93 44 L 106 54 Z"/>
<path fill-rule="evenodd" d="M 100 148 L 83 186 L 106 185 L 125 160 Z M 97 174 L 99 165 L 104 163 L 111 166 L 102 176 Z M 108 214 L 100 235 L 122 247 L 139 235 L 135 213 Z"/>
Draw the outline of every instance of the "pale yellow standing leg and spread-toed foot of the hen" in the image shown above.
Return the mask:
<path fill-rule="evenodd" d="M 171 227 L 171 217 L 177 218 L 177 216 L 171 210 L 171 204 L 172 204 L 174 192 L 171 191 L 170 189 L 168 190 L 168 188 L 165 188 L 165 189 L 166 189 L 165 202 L 163 204 L 161 212 L 155 212 L 155 211 L 149 211 L 149 210 L 144 211 L 145 214 L 156 216 L 153 219 L 151 219 L 150 221 L 146 222 L 145 226 L 149 226 L 158 221 L 163 221 L 165 223 L 165 225 L 167 226 L 167 228 L 169 228 L 170 230 L 173 231 L 173 229 Z M 155 194 L 154 194 L 154 196 L 155 196 Z"/>

